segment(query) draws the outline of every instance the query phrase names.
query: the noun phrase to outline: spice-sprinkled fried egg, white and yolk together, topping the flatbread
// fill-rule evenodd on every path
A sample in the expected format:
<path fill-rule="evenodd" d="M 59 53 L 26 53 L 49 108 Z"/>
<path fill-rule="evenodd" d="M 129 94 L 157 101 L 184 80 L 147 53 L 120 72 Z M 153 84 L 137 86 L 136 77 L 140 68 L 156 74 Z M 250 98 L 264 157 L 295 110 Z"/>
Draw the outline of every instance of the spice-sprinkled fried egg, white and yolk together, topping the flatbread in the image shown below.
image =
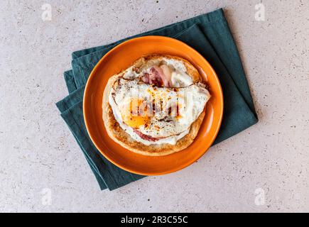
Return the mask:
<path fill-rule="evenodd" d="M 149 84 L 149 78 L 147 82 L 141 78 L 141 74 L 152 73 L 153 65 L 158 74 L 166 75 L 166 78 L 160 75 L 162 87 Z M 139 72 L 129 68 L 109 94 L 109 104 L 119 126 L 145 145 L 175 145 L 189 133 L 209 99 L 205 85 L 193 84 L 185 66 L 173 60 L 149 62 Z"/>

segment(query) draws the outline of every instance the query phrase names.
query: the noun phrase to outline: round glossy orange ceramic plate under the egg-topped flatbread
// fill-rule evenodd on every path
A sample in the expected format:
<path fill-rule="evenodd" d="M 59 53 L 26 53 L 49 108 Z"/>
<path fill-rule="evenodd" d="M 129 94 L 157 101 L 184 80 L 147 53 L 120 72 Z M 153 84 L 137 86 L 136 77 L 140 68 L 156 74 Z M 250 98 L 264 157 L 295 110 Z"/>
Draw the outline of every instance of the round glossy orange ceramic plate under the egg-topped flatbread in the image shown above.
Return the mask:
<path fill-rule="evenodd" d="M 151 157 L 131 152 L 109 138 L 102 119 L 102 96 L 109 77 L 129 67 L 143 55 L 167 54 L 190 61 L 210 86 L 210 101 L 194 142 L 171 155 Z M 223 114 L 223 95 L 219 79 L 210 64 L 185 43 L 163 36 L 144 36 L 127 40 L 110 50 L 92 70 L 83 102 L 87 131 L 97 149 L 121 169 L 139 175 L 164 175 L 181 170 L 200 158 L 215 140 Z"/>

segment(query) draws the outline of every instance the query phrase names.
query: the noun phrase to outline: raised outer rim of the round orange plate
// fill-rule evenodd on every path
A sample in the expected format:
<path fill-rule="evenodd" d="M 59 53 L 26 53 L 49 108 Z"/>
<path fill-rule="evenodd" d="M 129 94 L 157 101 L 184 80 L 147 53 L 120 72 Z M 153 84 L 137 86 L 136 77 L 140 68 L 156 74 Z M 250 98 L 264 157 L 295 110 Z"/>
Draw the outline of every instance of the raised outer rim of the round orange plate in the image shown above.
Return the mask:
<path fill-rule="evenodd" d="M 96 74 L 98 68 L 99 68 L 99 65 L 102 64 L 102 62 L 104 61 L 105 58 L 107 58 L 109 55 L 112 54 L 112 52 L 114 52 L 115 50 L 121 48 L 121 46 L 123 45 L 127 45 L 128 43 L 131 43 L 131 42 L 134 42 L 136 40 L 143 40 L 143 39 L 151 39 L 151 38 L 158 38 L 158 39 L 163 39 L 163 40 L 172 40 L 173 42 L 176 42 L 176 43 L 180 43 L 181 45 L 185 45 L 190 51 L 193 51 L 195 52 L 195 54 L 197 55 L 200 55 L 200 57 L 202 57 L 202 60 L 205 61 L 205 63 L 208 65 L 208 67 L 210 67 L 210 70 L 212 70 L 213 74 L 215 75 L 215 77 L 217 78 L 217 84 L 219 85 L 219 97 L 220 99 L 222 100 L 221 101 L 221 104 L 220 104 L 220 107 L 221 107 L 221 111 L 219 113 L 219 122 L 218 122 L 218 126 L 215 130 L 215 133 L 214 135 L 212 136 L 212 139 L 211 139 L 211 143 L 210 143 L 210 146 L 208 148 L 205 148 L 205 151 L 203 151 L 200 155 L 197 155 L 195 158 L 193 158 L 193 160 L 191 160 L 190 162 L 188 163 L 185 163 L 183 165 L 180 165 L 178 168 L 175 168 L 175 170 L 170 170 L 170 171 L 162 171 L 162 172 L 157 172 L 157 173 L 153 173 L 153 172 L 140 172 L 138 170 L 132 170 L 131 168 L 127 168 L 127 167 L 124 167 L 122 165 L 119 165 L 117 162 L 114 162 L 114 160 L 112 160 L 111 158 L 109 158 L 108 155 L 106 155 L 104 153 L 103 150 L 101 150 L 101 148 L 99 147 L 99 145 L 95 142 L 94 138 L 93 138 L 93 135 L 91 133 L 91 130 L 90 130 L 90 126 L 89 126 L 89 123 L 88 123 L 88 120 L 87 120 L 87 114 L 86 114 L 86 104 L 87 104 L 87 94 L 89 93 L 88 90 L 90 89 L 90 82 L 92 80 L 92 78 L 94 77 L 94 75 Z M 112 77 L 112 75 L 110 76 Z M 106 87 L 106 84 L 104 86 L 104 89 Z M 219 133 L 219 129 L 221 128 L 221 125 L 222 125 L 222 118 L 223 118 L 223 113 L 224 113 L 224 96 L 223 96 L 223 92 L 222 92 L 222 86 L 221 86 L 221 83 L 219 81 L 219 77 L 217 76 L 217 73 L 215 72 L 215 70 L 212 68 L 212 65 L 210 65 L 210 63 L 205 59 L 205 57 L 203 57 L 200 52 L 197 52 L 197 50 L 195 50 L 194 48 L 190 47 L 190 45 L 186 44 L 186 43 L 183 43 L 182 41 L 180 40 L 177 40 L 175 38 L 170 38 L 170 37 L 167 37 L 167 36 L 162 36 L 162 35 L 145 35 L 145 36 L 141 36 L 141 37 L 137 37 L 137 38 L 131 38 L 129 40 L 125 40 L 124 42 L 122 43 L 119 43 L 119 45 L 116 45 L 114 48 L 112 48 L 111 50 L 109 50 L 109 52 L 107 52 L 100 60 L 99 62 L 97 62 L 97 64 L 94 66 L 94 68 L 92 69 L 91 73 L 90 73 L 90 76 L 88 77 L 87 79 L 87 82 L 85 84 L 85 91 L 84 91 L 84 96 L 83 96 L 83 99 L 82 99 L 82 114 L 83 114 L 83 118 L 84 118 L 84 121 L 85 121 L 85 126 L 86 126 L 86 129 L 87 129 L 87 133 L 88 135 L 90 136 L 90 139 L 92 141 L 92 143 L 94 144 L 95 148 L 97 148 L 97 150 L 99 150 L 99 153 L 101 153 L 105 158 L 107 158 L 107 160 L 109 160 L 109 162 L 112 162 L 114 165 L 116 165 L 117 167 L 121 168 L 122 170 L 126 170 L 128 172 L 131 172 L 131 173 L 134 173 L 134 174 L 137 174 L 137 175 L 145 175 L 145 176 L 158 176 L 158 175 L 167 175 L 167 174 L 170 174 L 172 172 L 177 172 L 179 170 L 183 170 L 185 167 L 188 167 L 190 165 L 192 165 L 194 162 L 196 162 L 197 160 L 200 159 L 200 157 L 202 157 L 203 155 L 205 155 L 205 153 L 207 152 L 207 150 L 209 150 L 209 148 L 212 146 L 212 144 L 214 143 L 215 139 L 217 138 L 217 135 Z M 203 119 L 204 121 L 205 119 Z M 104 126 L 105 128 L 105 126 Z M 197 136 L 198 136 L 198 133 L 197 132 Z M 116 143 L 116 142 L 114 142 Z M 124 148 L 126 149 L 126 148 Z M 126 150 L 129 150 L 129 149 L 126 149 Z M 131 150 L 129 150 L 130 152 L 132 152 Z"/>

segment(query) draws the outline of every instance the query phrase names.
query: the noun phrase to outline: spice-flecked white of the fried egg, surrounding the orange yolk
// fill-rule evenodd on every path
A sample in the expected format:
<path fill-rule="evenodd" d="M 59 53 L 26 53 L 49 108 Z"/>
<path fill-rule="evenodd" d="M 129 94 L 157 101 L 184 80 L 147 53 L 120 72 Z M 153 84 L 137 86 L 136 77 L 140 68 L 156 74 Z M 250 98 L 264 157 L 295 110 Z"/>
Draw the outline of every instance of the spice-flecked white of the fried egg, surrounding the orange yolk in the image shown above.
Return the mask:
<path fill-rule="evenodd" d="M 153 87 L 151 84 L 140 83 L 139 79 L 120 79 L 120 86 L 112 89 L 109 96 L 109 104 L 112 106 L 116 121 L 122 129 L 129 133 L 132 138 L 145 144 L 162 144 L 169 143 L 175 145 L 180 138 L 187 135 L 190 131 L 191 124 L 200 116 L 210 94 L 204 87 L 199 84 L 190 84 L 188 87 L 179 89 L 166 87 Z M 113 95 L 112 95 L 113 94 Z M 161 138 L 156 141 L 143 140 L 136 133 L 133 128 L 124 123 L 122 118 L 125 111 L 124 106 L 129 100 L 143 99 L 147 101 L 154 101 L 156 106 L 162 106 L 160 111 L 156 111 L 150 118 L 147 126 L 141 125 L 138 130 L 153 138 Z M 161 102 L 161 104 L 159 104 Z M 172 116 L 168 116 L 168 108 L 175 107 L 178 104 L 179 116 L 175 114 L 173 108 Z M 169 121 L 165 121 L 168 118 Z"/>

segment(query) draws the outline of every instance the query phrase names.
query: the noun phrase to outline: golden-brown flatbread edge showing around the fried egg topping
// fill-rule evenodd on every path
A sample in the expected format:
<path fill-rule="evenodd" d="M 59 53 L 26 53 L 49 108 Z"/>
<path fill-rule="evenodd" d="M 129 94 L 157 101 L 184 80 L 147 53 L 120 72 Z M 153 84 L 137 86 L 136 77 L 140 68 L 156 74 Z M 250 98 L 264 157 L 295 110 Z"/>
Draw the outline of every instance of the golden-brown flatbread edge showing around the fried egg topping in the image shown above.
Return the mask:
<path fill-rule="evenodd" d="M 180 60 L 183 62 L 187 69 L 187 74 L 192 77 L 193 82 L 202 82 L 202 77 L 197 69 L 190 63 L 188 60 L 185 60 L 181 57 L 175 57 L 170 55 L 147 55 L 141 57 L 139 60 L 133 63 L 133 66 L 136 68 L 141 67 L 141 65 L 146 64 L 149 60 L 162 60 L 163 58 Z M 124 71 L 123 71 L 124 72 Z M 202 120 L 205 116 L 205 109 L 202 111 L 200 116 L 198 116 L 197 120 L 194 121 L 190 127 L 190 131 L 187 135 L 177 141 L 175 145 L 170 145 L 168 143 L 163 144 L 152 144 L 152 145 L 144 145 L 133 138 L 131 135 L 126 133 L 120 126 L 119 123 L 114 118 L 114 114 L 112 111 L 112 107 L 109 105 L 109 93 L 111 92 L 112 85 L 121 77 L 123 72 L 119 74 L 115 74 L 112 76 L 107 82 L 107 86 L 104 89 L 103 101 L 102 101 L 102 117 L 104 121 L 104 126 L 107 130 L 107 133 L 112 140 L 116 143 L 119 143 L 124 148 L 133 151 L 134 153 L 139 153 L 141 155 L 149 155 L 149 156 L 162 156 L 169 155 L 171 153 L 178 152 L 193 143 L 199 129 L 202 124 Z"/>

